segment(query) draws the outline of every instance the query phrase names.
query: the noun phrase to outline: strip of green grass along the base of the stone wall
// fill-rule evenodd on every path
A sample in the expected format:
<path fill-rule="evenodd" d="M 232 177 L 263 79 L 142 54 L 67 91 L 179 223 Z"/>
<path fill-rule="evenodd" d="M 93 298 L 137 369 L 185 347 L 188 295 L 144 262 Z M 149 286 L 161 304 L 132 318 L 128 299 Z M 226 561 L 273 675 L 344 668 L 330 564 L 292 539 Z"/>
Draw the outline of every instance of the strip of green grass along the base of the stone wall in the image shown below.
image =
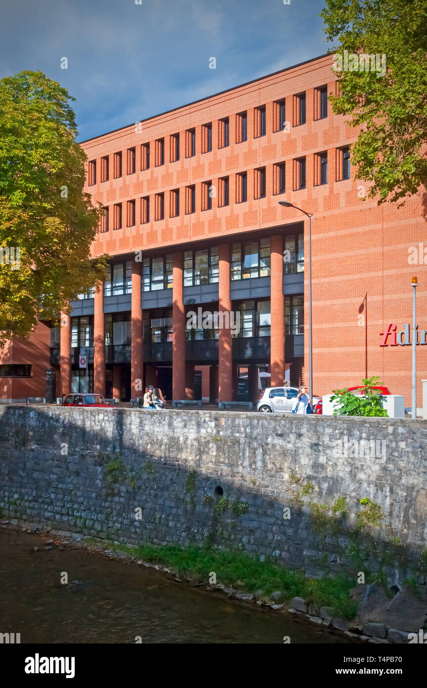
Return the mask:
<path fill-rule="evenodd" d="M 333 579 L 306 579 L 302 572 L 292 571 L 270 561 L 259 561 L 244 552 L 223 552 L 196 546 L 179 547 L 175 545 L 153 546 L 144 544 L 138 548 L 126 545 L 114 545 L 110 548 L 130 553 L 144 561 L 160 563 L 178 575 L 197 582 L 208 583 L 210 574 L 215 572 L 217 583 L 233 587 L 237 581 L 242 592 L 262 590 L 263 597 L 268 597 L 280 590 L 283 599 L 290 601 L 293 597 L 307 599 L 314 608 L 332 607 L 334 616 L 352 619 L 356 604 L 349 596 L 349 590 L 355 584 L 343 576 Z"/>

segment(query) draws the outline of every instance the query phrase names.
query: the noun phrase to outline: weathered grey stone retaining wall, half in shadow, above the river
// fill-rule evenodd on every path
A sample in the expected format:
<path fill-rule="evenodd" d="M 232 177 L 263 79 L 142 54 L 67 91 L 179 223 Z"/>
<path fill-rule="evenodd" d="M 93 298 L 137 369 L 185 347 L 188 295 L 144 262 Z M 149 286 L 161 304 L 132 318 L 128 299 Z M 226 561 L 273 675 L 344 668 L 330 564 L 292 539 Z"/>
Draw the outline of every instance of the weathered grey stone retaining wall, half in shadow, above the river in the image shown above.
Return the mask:
<path fill-rule="evenodd" d="M 426 548 L 426 433 L 389 418 L 2 406 L 0 508 L 127 543 L 238 547 L 314 577 L 364 561 L 394 582 L 419 575 Z M 384 513 L 386 557 L 360 533 L 355 552 L 364 498 Z M 325 519 L 334 502 L 347 516 Z"/>

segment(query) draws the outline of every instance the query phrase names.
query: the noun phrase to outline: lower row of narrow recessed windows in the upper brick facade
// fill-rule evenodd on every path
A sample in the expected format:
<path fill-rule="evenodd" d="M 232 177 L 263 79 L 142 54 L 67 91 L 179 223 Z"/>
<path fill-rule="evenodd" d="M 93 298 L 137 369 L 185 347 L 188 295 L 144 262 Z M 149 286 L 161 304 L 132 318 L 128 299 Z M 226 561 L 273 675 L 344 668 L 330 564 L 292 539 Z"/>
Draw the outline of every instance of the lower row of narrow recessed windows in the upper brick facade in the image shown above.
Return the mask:
<path fill-rule="evenodd" d="M 340 165 L 338 166 L 338 177 L 340 180 L 350 178 L 350 153 L 349 147 L 338 149 L 340 155 Z M 306 188 L 306 158 L 295 158 L 293 164 L 293 190 Z M 236 182 L 236 203 L 245 203 L 248 200 L 248 173 L 239 172 L 235 175 Z M 328 156 L 327 151 L 314 155 L 314 186 L 327 184 L 328 182 Z M 170 191 L 169 217 L 178 217 L 181 212 L 182 189 Z M 285 162 L 273 165 L 273 194 L 285 193 L 286 191 L 286 168 Z M 266 194 L 266 168 L 259 167 L 254 170 L 254 199 L 265 198 Z M 230 178 L 221 177 L 216 184 L 212 180 L 201 182 L 201 210 L 208 211 L 212 208 L 212 197 L 218 196 L 218 206 L 228 206 L 230 204 Z M 164 192 L 156 193 L 154 197 L 143 196 L 140 203 L 141 224 L 150 222 L 150 198 L 154 198 L 154 219 L 164 219 Z M 153 203 L 153 201 L 151 202 Z M 112 208 L 112 228 L 121 229 L 123 226 L 122 203 L 116 203 Z M 192 184 L 184 188 L 184 211 L 186 215 L 196 211 L 196 186 Z M 101 219 L 100 232 L 107 232 L 110 228 L 110 206 L 105 206 L 104 215 Z M 136 222 L 136 201 L 126 202 L 126 226 L 133 227 Z"/>

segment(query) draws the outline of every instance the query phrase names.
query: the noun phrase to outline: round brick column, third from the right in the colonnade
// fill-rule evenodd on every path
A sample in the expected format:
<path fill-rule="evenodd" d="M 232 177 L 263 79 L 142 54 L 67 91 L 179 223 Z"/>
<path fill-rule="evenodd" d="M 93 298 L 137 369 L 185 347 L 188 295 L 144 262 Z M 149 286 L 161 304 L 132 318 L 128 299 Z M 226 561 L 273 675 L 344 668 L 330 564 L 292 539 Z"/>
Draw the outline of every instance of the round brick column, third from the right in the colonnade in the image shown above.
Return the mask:
<path fill-rule="evenodd" d="M 186 387 L 186 323 L 183 298 L 182 252 L 173 254 L 173 340 L 172 398 L 185 399 Z"/>

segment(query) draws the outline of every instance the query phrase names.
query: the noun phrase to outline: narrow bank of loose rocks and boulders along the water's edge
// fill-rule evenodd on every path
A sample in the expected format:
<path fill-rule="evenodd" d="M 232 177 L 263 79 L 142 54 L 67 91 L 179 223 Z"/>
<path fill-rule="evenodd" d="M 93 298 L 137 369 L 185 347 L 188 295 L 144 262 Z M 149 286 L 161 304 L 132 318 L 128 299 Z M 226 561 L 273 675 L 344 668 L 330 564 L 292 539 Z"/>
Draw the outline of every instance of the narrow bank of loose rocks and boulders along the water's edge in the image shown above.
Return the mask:
<path fill-rule="evenodd" d="M 34 524 L 19 524 L 12 519 L 1 523 L 2 528 L 17 528 L 28 533 L 39 533 L 45 542 L 43 548 L 84 548 L 85 550 L 100 552 L 104 557 L 135 562 L 138 566 L 153 568 L 164 576 L 177 582 L 218 594 L 226 595 L 228 599 L 246 605 L 257 605 L 269 608 L 275 614 L 287 614 L 299 621 L 314 625 L 322 632 L 342 636 L 343 642 L 354 643 L 408 643 L 410 634 L 423 629 L 427 616 L 427 593 L 425 586 L 418 585 L 416 590 L 409 586 L 387 590 L 379 583 L 372 585 L 356 585 L 349 590 L 349 598 L 353 600 L 355 616 L 353 619 L 343 619 L 334 614 L 332 607 L 320 605 L 316 596 L 289 596 L 283 590 L 272 592 L 261 588 L 248 592 L 248 584 L 237 578 L 225 584 L 217 581 L 214 571 L 207 575 L 197 574 L 190 569 L 183 572 L 182 566 L 165 563 L 164 548 L 138 548 L 125 546 L 111 541 L 87 538 L 78 533 L 63 530 L 54 531 L 52 528 L 41 528 Z M 36 550 L 37 548 L 35 548 Z M 158 553 L 157 553 L 158 552 Z M 144 557 L 144 554 L 146 555 Z M 215 552 L 212 553 L 215 557 Z M 218 556 L 221 556 L 218 553 Z M 156 561 L 157 558 L 157 561 Z M 212 568 L 215 568 L 212 565 Z M 318 581 L 312 581 L 316 586 Z"/>

